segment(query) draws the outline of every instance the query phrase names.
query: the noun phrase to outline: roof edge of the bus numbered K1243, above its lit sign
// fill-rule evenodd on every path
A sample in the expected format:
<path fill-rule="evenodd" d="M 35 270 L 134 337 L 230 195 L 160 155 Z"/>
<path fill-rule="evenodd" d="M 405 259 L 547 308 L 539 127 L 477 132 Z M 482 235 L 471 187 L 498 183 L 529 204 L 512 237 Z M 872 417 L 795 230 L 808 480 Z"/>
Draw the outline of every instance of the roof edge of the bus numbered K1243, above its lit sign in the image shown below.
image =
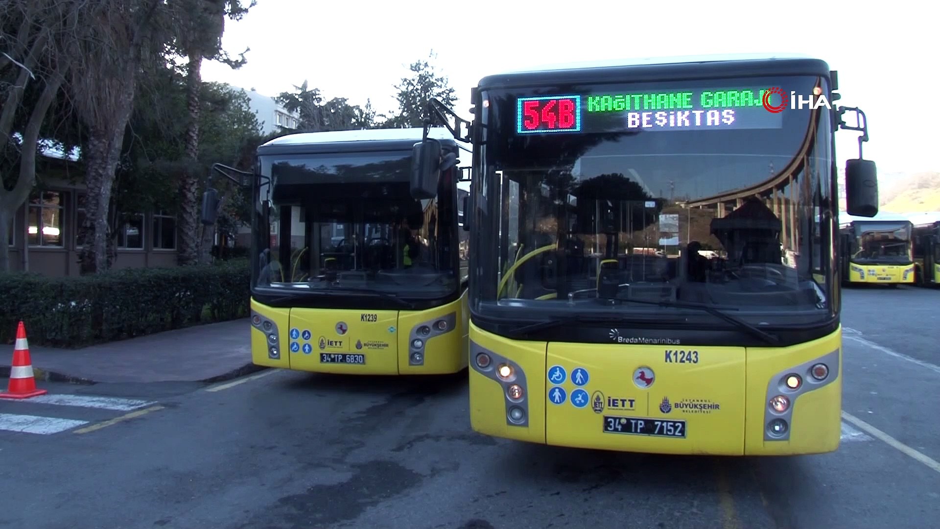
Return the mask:
<path fill-rule="evenodd" d="M 630 72 L 625 72 L 625 70 Z M 578 83 L 666 82 L 698 77 L 822 75 L 825 61 L 801 54 L 723 54 L 633 57 L 570 62 L 494 73 L 478 82 L 478 89 L 522 88 Z"/>

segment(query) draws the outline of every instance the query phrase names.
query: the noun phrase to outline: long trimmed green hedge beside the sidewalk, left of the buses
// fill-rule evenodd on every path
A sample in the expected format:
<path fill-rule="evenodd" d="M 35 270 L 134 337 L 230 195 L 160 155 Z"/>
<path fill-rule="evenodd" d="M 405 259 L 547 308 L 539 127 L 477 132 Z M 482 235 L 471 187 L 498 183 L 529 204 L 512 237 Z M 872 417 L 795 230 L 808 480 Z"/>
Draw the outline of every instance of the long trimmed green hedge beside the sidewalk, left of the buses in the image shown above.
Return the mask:
<path fill-rule="evenodd" d="M 84 277 L 0 273 L 0 344 L 79 347 L 248 315 L 247 260 Z"/>

